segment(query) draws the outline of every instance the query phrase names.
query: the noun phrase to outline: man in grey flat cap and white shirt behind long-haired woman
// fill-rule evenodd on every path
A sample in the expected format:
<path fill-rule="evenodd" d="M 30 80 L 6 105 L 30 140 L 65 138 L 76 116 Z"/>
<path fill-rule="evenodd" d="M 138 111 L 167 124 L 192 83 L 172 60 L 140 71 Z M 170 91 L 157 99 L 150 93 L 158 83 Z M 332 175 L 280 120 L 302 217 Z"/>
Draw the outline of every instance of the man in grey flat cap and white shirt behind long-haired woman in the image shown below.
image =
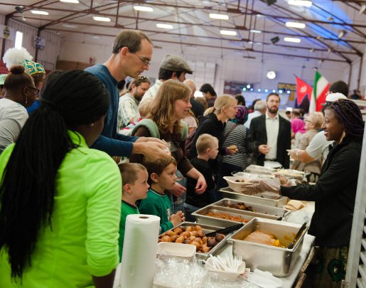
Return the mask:
<path fill-rule="evenodd" d="M 140 103 L 149 98 L 154 99 L 159 88 L 166 80 L 173 79 L 183 82 L 185 80 L 185 74 L 193 74 L 190 65 L 177 55 L 166 55 L 160 63 L 158 80 L 146 91 Z"/>

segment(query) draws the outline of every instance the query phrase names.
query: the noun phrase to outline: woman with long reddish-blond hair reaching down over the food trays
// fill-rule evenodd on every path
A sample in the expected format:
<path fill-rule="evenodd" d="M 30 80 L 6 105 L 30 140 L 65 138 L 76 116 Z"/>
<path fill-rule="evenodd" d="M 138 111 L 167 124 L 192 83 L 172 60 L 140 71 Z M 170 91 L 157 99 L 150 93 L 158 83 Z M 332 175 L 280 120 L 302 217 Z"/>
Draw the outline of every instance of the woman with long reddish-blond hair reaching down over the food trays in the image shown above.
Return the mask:
<path fill-rule="evenodd" d="M 196 191 L 203 193 L 206 188 L 205 177 L 195 169 L 185 156 L 185 138 L 188 134 L 187 124 L 183 119 L 187 117 L 190 105 L 190 88 L 176 80 L 167 80 L 158 90 L 146 119 L 141 120 L 132 131 L 132 135 L 139 137 L 158 137 L 170 145 L 171 155 L 176 159 L 178 170 L 183 176 L 197 180 Z M 156 130 L 156 131 L 154 131 Z M 142 163 L 141 154 L 132 154 L 131 162 Z M 176 183 L 170 191 L 180 197 L 185 188 Z"/>

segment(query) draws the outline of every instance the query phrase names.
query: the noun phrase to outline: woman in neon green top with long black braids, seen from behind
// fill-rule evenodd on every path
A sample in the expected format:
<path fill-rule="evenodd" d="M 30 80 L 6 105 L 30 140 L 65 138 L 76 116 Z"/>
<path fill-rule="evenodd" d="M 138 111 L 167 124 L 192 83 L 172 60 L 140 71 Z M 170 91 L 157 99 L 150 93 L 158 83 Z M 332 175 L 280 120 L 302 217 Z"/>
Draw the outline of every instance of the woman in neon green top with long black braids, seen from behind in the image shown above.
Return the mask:
<path fill-rule="evenodd" d="M 0 156 L 0 287 L 112 287 L 122 183 L 112 158 L 89 149 L 108 92 L 82 70 L 46 84 Z"/>

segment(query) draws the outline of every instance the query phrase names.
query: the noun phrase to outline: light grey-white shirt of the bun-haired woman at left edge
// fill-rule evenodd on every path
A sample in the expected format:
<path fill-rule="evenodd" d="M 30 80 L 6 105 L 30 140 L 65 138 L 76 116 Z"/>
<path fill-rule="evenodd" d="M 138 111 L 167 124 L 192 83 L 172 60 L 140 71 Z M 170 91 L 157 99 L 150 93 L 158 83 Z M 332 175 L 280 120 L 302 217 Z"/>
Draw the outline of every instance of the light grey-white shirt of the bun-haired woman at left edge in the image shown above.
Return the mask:
<path fill-rule="evenodd" d="M 26 119 L 26 108 L 12 100 L 0 99 L 0 153 L 16 141 Z"/>

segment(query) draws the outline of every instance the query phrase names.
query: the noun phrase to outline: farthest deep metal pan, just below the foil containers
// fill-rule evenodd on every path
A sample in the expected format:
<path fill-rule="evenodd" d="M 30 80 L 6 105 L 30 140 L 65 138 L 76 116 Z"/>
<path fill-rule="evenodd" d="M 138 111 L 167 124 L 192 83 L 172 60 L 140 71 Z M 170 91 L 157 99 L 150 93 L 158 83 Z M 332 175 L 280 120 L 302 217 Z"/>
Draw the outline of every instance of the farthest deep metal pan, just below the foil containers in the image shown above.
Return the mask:
<path fill-rule="evenodd" d="M 254 195 L 246 195 L 238 193 L 230 189 L 229 187 L 220 189 L 223 198 L 230 198 L 239 201 L 248 201 L 251 203 L 258 203 L 266 206 L 283 207 L 289 201 L 289 198 L 285 196 L 278 196 L 274 193 L 264 192 Z"/>

